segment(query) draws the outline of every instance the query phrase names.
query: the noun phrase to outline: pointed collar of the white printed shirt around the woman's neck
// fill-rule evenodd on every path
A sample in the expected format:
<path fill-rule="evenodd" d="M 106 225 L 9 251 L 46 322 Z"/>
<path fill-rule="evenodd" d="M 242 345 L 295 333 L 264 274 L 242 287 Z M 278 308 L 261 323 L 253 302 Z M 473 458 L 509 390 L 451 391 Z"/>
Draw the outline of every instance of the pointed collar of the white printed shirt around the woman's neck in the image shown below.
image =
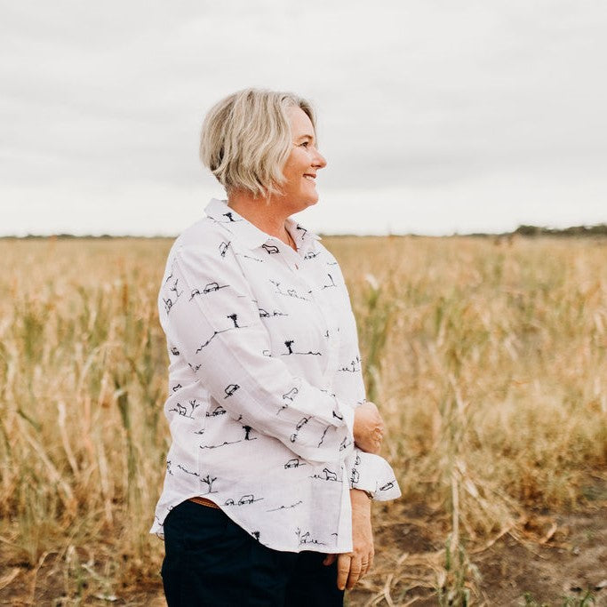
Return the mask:
<path fill-rule="evenodd" d="M 218 200 L 212 198 L 211 202 L 207 204 L 204 212 L 212 220 L 222 224 L 229 232 L 231 232 L 244 246 L 249 249 L 257 249 L 262 244 L 266 244 L 268 240 L 278 240 L 276 236 L 270 236 L 266 234 L 260 228 L 253 226 L 251 221 L 245 220 L 244 217 L 239 215 L 236 211 L 233 211 L 228 207 L 228 202 L 225 200 Z M 300 252 L 307 252 L 310 249 L 315 248 L 315 242 L 321 240 L 321 237 L 316 235 L 314 232 L 310 232 L 297 221 L 291 218 L 286 220 L 286 226 L 291 234 L 292 239 L 295 241 L 297 248 Z"/>

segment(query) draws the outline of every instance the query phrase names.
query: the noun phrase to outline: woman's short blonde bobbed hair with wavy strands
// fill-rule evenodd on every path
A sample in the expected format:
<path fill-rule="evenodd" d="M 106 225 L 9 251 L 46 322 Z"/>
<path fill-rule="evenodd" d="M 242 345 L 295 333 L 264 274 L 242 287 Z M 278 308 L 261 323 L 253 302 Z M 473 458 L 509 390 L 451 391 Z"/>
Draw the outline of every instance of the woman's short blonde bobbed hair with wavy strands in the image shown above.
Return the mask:
<path fill-rule="evenodd" d="M 220 100 L 204 118 L 200 159 L 229 193 L 280 192 L 291 152 L 288 108 L 301 108 L 316 128 L 309 101 L 291 92 L 244 89 Z"/>

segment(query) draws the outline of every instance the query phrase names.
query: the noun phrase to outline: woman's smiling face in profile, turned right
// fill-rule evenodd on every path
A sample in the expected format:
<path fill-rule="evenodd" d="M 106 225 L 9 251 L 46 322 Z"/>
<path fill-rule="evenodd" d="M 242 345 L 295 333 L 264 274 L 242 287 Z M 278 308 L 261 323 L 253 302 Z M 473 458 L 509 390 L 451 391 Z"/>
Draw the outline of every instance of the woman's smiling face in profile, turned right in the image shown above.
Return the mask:
<path fill-rule="evenodd" d="M 316 172 L 326 166 L 327 161 L 316 149 L 312 122 L 301 108 L 289 108 L 291 120 L 292 149 L 284 164 L 284 203 L 299 212 L 318 202 Z"/>

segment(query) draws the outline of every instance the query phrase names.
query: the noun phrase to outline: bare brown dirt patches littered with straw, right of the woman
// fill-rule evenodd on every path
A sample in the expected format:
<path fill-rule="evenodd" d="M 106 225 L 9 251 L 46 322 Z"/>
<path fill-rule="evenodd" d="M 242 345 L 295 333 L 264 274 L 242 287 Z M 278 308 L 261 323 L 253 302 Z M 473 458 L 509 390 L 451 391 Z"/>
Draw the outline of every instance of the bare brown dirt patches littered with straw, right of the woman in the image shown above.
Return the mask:
<path fill-rule="evenodd" d="M 436 535 L 427 523 L 426 517 L 413 515 L 406 523 L 379 529 L 377 544 L 390 548 L 380 555 L 376 570 L 384 580 L 392 575 L 388 592 L 363 582 L 368 589 L 350 593 L 350 605 L 439 604 L 440 573 L 428 576 L 432 562 L 425 563 L 418 555 L 440 551 L 444 535 Z M 607 502 L 575 513 L 529 515 L 521 529 L 491 547 L 472 551 L 468 559 L 471 604 L 607 605 Z"/>

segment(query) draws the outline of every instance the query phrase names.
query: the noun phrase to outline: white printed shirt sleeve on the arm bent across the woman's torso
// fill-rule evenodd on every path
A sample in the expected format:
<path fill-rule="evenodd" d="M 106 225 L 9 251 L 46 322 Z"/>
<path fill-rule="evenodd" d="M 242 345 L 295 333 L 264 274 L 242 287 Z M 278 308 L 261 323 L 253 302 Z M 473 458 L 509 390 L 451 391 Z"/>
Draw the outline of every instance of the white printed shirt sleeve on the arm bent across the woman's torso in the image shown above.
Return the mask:
<path fill-rule="evenodd" d="M 353 407 L 270 355 L 268 331 L 236 258 L 208 249 L 188 245 L 170 256 L 158 298 L 167 339 L 231 417 L 302 458 L 346 459 L 354 448 Z"/>

